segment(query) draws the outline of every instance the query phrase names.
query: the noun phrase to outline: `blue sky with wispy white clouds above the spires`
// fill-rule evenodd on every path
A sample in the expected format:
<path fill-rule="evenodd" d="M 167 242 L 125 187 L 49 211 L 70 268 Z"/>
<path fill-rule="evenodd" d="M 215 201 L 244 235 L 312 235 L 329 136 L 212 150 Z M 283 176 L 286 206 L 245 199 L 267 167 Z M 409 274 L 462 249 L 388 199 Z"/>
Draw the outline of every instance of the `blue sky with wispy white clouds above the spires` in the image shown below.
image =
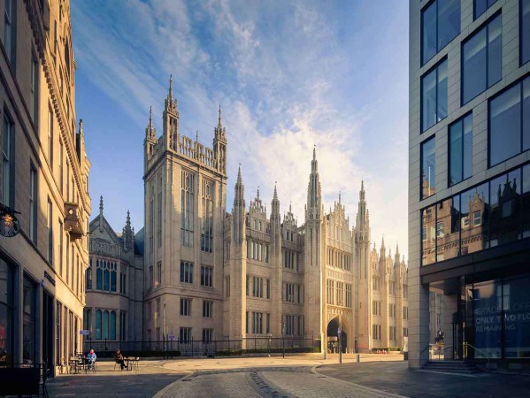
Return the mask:
<path fill-rule="evenodd" d="M 181 134 L 211 146 L 219 103 L 228 140 L 228 209 L 237 166 L 247 203 L 303 223 L 313 145 L 326 210 L 350 226 L 365 180 L 372 240 L 407 245 L 408 2 L 73 0 L 76 111 L 92 162 L 92 217 L 143 226 L 143 138 L 157 134 L 170 73 Z M 270 209 L 270 204 L 267 206 Z"/>

